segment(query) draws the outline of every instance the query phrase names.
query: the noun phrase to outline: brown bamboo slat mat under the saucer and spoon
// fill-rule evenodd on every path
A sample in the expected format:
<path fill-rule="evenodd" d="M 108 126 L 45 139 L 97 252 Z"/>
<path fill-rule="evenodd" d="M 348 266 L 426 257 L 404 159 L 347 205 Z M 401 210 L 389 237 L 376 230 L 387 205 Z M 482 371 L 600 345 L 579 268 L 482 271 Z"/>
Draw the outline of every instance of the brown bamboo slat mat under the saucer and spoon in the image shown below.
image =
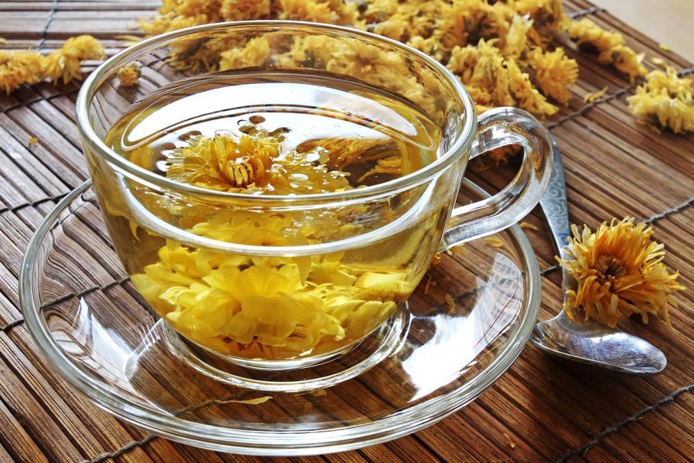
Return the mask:
<path fill-rule="evenodd" d="M 627 44 L 684 74 L 691 63 L 659 49 L 591 3 L 564 2 L 621 31 Z M 109 54 L 115 37 L 160 2 L 3 1 L 6 48 L 50 51 L 67 37 L 90 33 Z M 0 95 L 0 462 L 688 462 L 694 461 L 694 136 L 652 133 L 636 124 L 626 97 L 635 85 L 595 56 L 563 44 L 581 76 L 568 106 L 546 121 L 564 156 L 570 218 L 595 229 L 612 217 L 636 217 L 666 245 L 666 265 L 690 288 L 677 294 L 670 330 L 661 319 L 620 328 L 661 348 L 668 369 L 648 378 L 604 376 L 547 357 L 528 345 L 514 365 L 476 401 L 414 435 L 357 451 L 319 457 L 259 458 L 214 453 L 149 435 L 91 405 L 37 352 L 19 310 L 17 284 L 33 231 L 56 202 L 87 178 L 74 124 L 78 85 L 42 83 Z M 93 69 L 96 62 L 87 62 Z M 650 62 L 647 67 L 652 68 Z M 638 83 L 638 82 L 637 82 Z M 609 87 L 586 104 L 583 96 Z M 37 144 L 29 144 L 38 137 Z M 473 180 L 488 191 L 510 170 Z M 541 213 L 526 219 L 543 273 L 540 318 L 558 311 L 560 275 Z M 511 442 L 514 446 L 511 446 Z"/>

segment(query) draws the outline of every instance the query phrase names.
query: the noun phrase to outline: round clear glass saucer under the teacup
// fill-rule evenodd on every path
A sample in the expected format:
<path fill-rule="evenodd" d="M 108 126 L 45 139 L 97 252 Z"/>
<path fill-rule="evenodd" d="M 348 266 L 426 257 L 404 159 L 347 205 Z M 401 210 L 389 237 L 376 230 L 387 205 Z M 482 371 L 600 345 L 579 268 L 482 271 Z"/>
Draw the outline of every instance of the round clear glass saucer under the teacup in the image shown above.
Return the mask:
<path fill-rule="evenodd" d="M 486 196 L 465 181 L 458 198 Z M 158 320 L 121 268 L 87 182 L 37 229 L 19 290 L 40 351 L 104 410 L 214 451 L 315 455 L 402 437 L 473 401 L 529 339 L 540 275 L 512 226 L 444 255 L 391 322 L 349 353 L 298 371 L 244 371 Z M 250 380 L 228 380 L 239 376 Z M 313 387 L 283 386 L 296 380 Z"/>

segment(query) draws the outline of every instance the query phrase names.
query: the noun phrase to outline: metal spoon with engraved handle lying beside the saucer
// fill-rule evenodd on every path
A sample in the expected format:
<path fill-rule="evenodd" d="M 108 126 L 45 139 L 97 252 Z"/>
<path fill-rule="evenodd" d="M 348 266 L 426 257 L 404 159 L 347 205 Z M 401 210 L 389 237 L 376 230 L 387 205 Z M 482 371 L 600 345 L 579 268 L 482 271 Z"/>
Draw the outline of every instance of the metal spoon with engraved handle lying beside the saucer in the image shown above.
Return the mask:
<path fill-rule="evenodd" d="M 555 165 L 550 185 L 540 201 L 540 206 L 545 213 L 559 255 L 566 258 L 564 246 L 568 244 L 570 226 L 564 165 L 557 142 L 551 135 L 550 139 Z M 566 289 L 569 285 L 575 286 L 576 281 L 564 268 L 561 275 L 561 289 L 566 302 Z M 557 317 L 537 323 L 530 341 L 552 355 L 618 373 L 655 375 L 661 373 L 668 364 L 665 354 L 640 337 L 614 330 L 593 319 L 585 321 L 584 317 L 575 317 L 575 321 L 572 321 L 564 309 Z"/>

